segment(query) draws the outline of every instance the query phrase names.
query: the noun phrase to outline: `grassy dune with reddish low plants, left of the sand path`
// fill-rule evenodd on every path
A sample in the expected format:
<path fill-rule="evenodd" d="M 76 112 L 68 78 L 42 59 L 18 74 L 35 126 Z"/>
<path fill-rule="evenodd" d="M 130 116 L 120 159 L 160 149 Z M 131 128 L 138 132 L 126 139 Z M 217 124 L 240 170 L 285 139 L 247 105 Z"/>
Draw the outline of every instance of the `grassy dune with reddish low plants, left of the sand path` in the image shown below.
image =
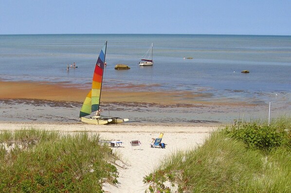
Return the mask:
<path fill-rule="evenodd" d="M 91 133 L 34 128 L 0 133 L 0 192 L 101 193 L 118 159 Z"/>

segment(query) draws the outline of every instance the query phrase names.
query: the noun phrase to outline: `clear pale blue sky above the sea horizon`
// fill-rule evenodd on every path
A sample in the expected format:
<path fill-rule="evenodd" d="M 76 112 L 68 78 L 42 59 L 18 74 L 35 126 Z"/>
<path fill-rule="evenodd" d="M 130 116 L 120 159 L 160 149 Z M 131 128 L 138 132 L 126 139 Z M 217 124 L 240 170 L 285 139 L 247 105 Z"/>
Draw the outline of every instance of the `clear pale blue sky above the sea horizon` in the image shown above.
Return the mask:
<path fill-rule="evenodd" d="M 291 0 L 0 0 L 0 35 L 291 35 Z"/>

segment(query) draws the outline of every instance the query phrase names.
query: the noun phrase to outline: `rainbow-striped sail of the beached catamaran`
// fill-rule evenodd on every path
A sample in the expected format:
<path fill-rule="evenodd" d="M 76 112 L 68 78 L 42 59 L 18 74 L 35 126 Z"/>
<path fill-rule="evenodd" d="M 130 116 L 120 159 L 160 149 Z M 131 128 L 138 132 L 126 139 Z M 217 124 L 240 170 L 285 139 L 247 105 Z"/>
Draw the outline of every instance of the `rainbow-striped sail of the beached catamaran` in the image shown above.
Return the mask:
<path fill-rule="evenodd" d="M 104 63 L 105 63 L 106 48 L 107 48 L 107 41 L 105 45 L 103 46 L 99 54 L 99 57 L 97 59 L 95 70 L 93 73 L 92 88 L 90 92 L 87 94 L 87 97 L 80 110 L 80 117 L 85 117 L 87 115 L 90 115 L 91 112 L 99 110 L 103 71 L 104 71 L 104 66 L 105 66 Z"/>

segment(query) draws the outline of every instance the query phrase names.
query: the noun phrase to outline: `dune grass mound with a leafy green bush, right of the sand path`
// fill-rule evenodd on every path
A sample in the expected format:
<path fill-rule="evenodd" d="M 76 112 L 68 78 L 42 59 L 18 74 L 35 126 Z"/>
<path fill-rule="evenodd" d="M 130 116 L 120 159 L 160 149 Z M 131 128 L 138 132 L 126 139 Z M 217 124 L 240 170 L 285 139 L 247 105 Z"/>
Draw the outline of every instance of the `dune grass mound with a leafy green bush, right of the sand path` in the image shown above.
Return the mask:
<path fill-rule="evenodd" d="M 290 193 L 290 118 L 239 122 L 200 147 L 164 158 L 144 177 L 150 193 Z"/>

